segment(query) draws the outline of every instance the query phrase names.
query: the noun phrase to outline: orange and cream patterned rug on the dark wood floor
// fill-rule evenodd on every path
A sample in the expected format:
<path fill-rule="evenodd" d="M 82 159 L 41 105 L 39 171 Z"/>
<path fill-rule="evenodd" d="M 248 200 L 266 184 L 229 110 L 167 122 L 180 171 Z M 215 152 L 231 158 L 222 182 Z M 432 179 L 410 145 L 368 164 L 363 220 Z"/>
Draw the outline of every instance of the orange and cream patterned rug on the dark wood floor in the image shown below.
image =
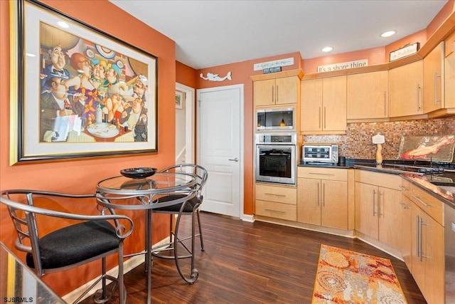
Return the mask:
<path fill-rule="evenodd" d="M 387 258 L 321 245 L 313 304 L 407 303 Z"/>

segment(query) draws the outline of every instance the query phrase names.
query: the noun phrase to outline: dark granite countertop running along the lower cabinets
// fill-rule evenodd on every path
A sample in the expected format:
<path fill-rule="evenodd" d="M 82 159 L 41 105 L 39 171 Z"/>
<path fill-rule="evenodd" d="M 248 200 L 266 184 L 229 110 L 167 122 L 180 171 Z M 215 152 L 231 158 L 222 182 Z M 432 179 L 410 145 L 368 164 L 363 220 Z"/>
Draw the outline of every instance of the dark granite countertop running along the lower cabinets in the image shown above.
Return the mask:
<path fill-rule="evenodd" d="M 344 163 L 323 164 L 323 163 L 304 163 L 298 164 L 299 167 L 321 167 L 321 168 L 340 168 L 340 169 L 365 169 L 374 172 L 387 174 L 400 174 L 410 182 L 417 184 L 422 189 L 436 196 L 447 205 L 455 208 L 455 192 L 451 192 L 451 187 L 455 187 L 455 164 L 439 164 L 423 161 L 401 161 L 384 160 L 382 165 L 377 165 L 375 159 L 346 159 Z M 419 172 L 419 168 L 443 167 L 444 172 L 437 174 L 425 174 Z M 422 169 L 420 170 L 422 171 Z M 448 189 L 449 188 L 449 189 Z"/>

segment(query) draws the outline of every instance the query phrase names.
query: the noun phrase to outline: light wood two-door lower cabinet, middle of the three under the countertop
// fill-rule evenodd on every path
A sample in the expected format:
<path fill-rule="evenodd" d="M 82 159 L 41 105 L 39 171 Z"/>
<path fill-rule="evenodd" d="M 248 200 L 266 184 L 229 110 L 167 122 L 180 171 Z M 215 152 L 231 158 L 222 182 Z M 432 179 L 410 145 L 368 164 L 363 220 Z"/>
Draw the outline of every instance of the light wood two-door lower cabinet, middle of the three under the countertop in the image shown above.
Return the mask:
<path fill-rule="evenodd" d="M 355 172 L 355 230 L 400 250 L 402 244 L 401 177 Z"/>

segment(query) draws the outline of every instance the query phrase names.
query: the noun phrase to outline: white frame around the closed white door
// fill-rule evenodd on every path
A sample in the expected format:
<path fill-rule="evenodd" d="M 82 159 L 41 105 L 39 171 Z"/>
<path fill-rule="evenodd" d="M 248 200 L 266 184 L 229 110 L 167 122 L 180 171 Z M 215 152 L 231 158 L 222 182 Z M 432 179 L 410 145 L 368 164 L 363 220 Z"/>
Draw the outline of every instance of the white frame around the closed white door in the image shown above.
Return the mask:
<path fill-rule="evenodd" d="M 220 86 L 220 87 L 215 87 L 215 88 L 205 88 L 205 89 L 198 89 L 196 90 L 196 98 L 197 98 L 197 106 L 200 108 L 200 93 L 207 93 L 207 92 L 216 92 L 220 90 L 231 90 L 231 89 L 239 89 L 240 90 L 240 152 L 239 152 L 239 158 L 240 158 L 240 214 L 239 218 L 247 221 L 251 221 L 250 215 L 245 215 L 244 212 L 244 170 L 245 170 L 245 162 L 244 162 L 244 145 L 245 145 L 245 97 L 244 97 L 244 85 L 225 85 L 225 86 Z M 196 150 L 200 151 L 200 111 L 196 111 Z M 200 154 L 196 153 L 197 157 L 197 162 L 200 163 Z"/>

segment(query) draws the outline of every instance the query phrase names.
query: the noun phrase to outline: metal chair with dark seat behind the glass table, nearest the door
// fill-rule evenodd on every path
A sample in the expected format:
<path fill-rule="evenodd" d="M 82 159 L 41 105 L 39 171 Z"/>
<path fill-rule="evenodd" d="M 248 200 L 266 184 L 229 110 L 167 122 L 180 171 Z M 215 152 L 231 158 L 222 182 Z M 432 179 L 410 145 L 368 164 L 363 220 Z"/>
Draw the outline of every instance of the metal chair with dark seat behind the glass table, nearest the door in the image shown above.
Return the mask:
<path fill-rule="evenodd" d="M 176 164 L 174 166 L 161 170 L 161 172 L 184 172 L 193 174 L 193 176 L 196 177 L 195 197 L 183 201 L 181 204 L 156 208 L 153 211 L 154 213 L 169 214 L 170 219 L 169 242 L 155 247 L 153 255 L 159 258 L 175 259 L 177 271 L 180 276 L 183 278 L 183 280 L 192 284 L 196 282 L 199 276 L 198 270 L 194 267 L 194 247 L 195 238 L 197 236 L 199 236 L 200 239 L 200 250 L 204 251 L 203 234 L 200 226 L 199 207 L 203 202 L 202 190 L 205 182 L 207 181 L 208 173 L 205 168 L 199 166 L 198 164 Z M 164 202 L 166 200 L 174 200 L 177 198 L 178 195 L 173 194 L 161 198 L 160 202 Z M 176 215 L 177 219 L 174 227 L 173 219 Z M 183 215 L 191 215 L 191 236 L 179 236 L 180 221 Z M 196 219 L 198 221 L 198 234 L 196 234 Z M 191 245 L 186 244 L 186 241 L 188 240 L 191 240 Z M 180 248 L 183 249 L 182 254 L 178 253 Z M 166 254 L 166 251 L 173 251 L 173 255 Z M 189 277 L 183 273 L 183 269 L 181 267 L 180 260 L 183 258 L 191 258 L 191 274 Z"/>

